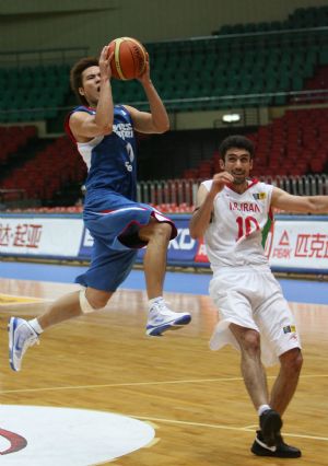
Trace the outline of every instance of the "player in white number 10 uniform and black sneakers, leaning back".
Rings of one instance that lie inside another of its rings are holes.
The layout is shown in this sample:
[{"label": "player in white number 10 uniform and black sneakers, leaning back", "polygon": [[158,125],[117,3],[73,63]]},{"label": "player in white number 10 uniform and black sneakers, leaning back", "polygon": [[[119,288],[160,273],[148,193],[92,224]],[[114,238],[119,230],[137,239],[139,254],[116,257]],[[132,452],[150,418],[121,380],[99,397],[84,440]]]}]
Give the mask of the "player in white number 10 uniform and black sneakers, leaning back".
[{"label": "player in white number 10 uniform and black sneakers, leaning back", "polygon": [[[259,416],[251,452],[298,457],[301,451],[286,445],[280,430],[302,368],[301,342],[265,256],[262,231],[271,208],[327,213],[328,196],[292,196],[249,179],[254,147],[243,136],[226,138],[220,154],[222,172],[200,185],[190,221],[191,236],[204,237],[213,271],[210,295],[220,313],[210,348],[218,350],[231,343],[241,350],[242,374]],[[270,395],[261,361],[265,365],[280,363]]]}]

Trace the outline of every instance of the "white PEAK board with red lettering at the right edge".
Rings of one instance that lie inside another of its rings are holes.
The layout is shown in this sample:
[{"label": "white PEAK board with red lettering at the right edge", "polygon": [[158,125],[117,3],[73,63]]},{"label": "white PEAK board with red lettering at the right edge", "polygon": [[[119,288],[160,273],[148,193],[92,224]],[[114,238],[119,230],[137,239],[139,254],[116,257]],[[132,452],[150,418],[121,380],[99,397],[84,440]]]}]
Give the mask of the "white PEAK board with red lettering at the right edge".
[{"label": "white PEAK board with red lettering at the right edge", "polygon": [[278,220],[266,249],[271,267],[328,271],[327,221]]}]

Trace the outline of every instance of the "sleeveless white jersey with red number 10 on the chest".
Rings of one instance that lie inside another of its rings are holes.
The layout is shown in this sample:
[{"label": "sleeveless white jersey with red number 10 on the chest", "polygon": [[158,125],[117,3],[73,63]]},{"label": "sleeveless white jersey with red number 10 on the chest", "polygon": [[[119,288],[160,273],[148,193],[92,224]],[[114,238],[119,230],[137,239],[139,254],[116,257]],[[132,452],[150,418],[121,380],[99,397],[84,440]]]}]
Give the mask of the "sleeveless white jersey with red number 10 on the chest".
[{"label": "sleeveless white jersey with red number 10 on the chest", "polygon": [[[202,185],[209,191],[212,179]],[[245,193],[225,186],[214,198],[213,218],[204,234],[213,271],[220,267],[268,264],[261,245],[262,230],[270,215],[273,186],[248,182]]]}]

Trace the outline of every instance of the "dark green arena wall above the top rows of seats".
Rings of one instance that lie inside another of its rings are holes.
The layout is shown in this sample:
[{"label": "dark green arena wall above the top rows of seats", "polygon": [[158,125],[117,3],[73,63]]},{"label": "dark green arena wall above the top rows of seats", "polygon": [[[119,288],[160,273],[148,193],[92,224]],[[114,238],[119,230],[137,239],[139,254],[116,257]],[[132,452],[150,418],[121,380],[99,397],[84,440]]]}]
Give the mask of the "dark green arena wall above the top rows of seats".
[{"label": "dark green arena wall above the top rows of seats", "polygon": [[[208,36],[223,24],[283,21],[327,0],[11,0],[0,2],[1,53],[89,46],[117,36],[156,42]],[[0,54],[1,58],[1,54]]]}]

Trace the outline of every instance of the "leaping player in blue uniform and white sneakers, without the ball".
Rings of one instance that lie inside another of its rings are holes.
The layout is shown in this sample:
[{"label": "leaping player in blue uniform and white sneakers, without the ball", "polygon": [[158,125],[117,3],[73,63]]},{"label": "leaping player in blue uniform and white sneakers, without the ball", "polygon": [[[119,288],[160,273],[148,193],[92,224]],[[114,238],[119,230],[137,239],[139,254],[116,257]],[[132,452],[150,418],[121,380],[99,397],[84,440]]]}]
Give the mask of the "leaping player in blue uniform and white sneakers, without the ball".
[{"label": "leaping player in blue uniform and white sneakers, without the ball", "polygon": [[114,105],[110,59],[104,47],[99,59],[84,58],[71,70],[71,86],[82,105],[67,118],[66,130],[87,166],[83,219],[93,236],[91,266],[77,278],[81,291],[56,301],[32,321],[9,322],[10,365],[20,371],[30,346],[48,327],[103,308],[130,272],[138,248],[147,246],[144,273],[149,298],[147,335],[160,336],[191,321],[176,313],[163,299],[166,252],[177,235],[174,223],[156,209],[136,200],[134,130],[162,133],[168,130],[166,109],[150,79],[149,62],[139,78],[150,113]]}]

